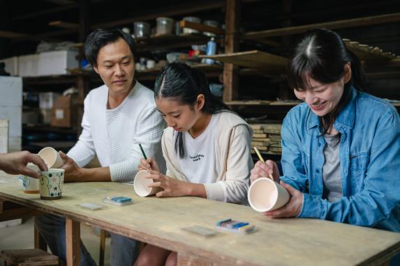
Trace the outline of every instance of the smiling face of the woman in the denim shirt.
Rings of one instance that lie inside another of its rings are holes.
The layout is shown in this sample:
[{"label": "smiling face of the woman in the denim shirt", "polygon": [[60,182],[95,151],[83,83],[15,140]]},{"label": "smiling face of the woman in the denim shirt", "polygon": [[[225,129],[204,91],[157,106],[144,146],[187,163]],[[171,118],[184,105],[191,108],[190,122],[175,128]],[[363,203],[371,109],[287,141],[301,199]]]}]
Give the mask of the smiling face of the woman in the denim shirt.
[{"label": "smiling face of the woman in the denim shirt", "polygon": [[299,100],[309,104],[311,111],[317,116],[325,116],[331,111],[334,111],[339,104],[343,95],[344,84],[351,77],[350,63],[345,65],[345,74],[343,77],[334,83],[321,84],[315,79],[308,77],[309,88],[300,88],[300,91],[295,90],[295,95]]}]

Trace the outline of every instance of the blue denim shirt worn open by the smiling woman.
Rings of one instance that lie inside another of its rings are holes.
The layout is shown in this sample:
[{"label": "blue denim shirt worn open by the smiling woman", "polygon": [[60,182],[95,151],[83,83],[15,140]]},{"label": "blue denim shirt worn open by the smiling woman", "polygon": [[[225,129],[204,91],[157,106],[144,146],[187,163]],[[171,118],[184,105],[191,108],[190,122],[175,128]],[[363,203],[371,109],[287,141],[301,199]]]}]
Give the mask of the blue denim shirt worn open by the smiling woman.
[{"label": "blue denim shirt worn open by the smiling woman", "polygon": [[323,198],[323,148],[318,116],[305,103],[292,108],[282,126],[281,180],[303,192],[299,217],[400,232],[400,117],[391,104],[352,90],[334,122],[341,133],[343,197]]}]

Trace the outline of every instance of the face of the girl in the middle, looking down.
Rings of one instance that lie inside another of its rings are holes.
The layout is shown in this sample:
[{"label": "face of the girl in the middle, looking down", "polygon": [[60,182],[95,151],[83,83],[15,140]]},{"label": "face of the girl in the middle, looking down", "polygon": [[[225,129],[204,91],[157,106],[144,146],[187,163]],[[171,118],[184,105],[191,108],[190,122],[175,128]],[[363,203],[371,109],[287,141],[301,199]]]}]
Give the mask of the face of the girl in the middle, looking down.
[{"label": "face of the girl in the middle, looking down", "polygon": [[204,106],[204,95],[198,95],[195,104],[181,104],[172,97],[156,97],[158,111],[163,116],[168,127],[176,131],[189,131],[201,115],[201,109]]}]

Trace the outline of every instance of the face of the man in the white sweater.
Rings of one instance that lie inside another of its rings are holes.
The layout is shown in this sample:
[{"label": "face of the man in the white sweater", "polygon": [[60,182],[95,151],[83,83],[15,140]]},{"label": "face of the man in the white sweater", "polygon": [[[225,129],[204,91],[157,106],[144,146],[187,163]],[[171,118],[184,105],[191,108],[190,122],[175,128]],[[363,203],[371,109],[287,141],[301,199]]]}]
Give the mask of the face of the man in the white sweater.
[{"label": "face of the man in the white sweater", "polygon": [[127,93],[135,75],[135,61],[128,44],[119,38],[98,51],[94,70],[100,75],[110,93]]}]

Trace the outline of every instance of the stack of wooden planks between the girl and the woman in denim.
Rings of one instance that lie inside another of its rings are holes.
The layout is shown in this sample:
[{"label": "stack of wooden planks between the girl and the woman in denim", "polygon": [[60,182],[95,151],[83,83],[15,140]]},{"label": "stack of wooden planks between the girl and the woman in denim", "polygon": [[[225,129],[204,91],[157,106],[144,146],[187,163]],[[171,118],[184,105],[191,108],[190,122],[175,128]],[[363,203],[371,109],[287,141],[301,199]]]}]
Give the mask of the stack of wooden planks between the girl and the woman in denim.
[{"label": "stack of wooden planks between the girl and the woman in denim", "polygon": [[269,154],[280,155],[282,153],[282,124],[250,124],[250,126],[254,131],[251,146],[256,146],[258,150]]}]

